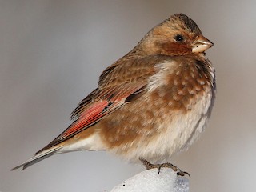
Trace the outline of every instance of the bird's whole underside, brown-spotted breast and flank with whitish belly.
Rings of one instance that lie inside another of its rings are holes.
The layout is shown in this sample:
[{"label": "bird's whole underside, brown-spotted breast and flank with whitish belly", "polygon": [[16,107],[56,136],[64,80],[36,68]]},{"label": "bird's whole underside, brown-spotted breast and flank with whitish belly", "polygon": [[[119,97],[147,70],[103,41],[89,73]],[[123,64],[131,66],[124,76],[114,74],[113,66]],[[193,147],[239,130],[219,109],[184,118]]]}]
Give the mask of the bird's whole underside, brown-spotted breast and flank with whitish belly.
[{"label": "bird's whole underside, brown-spotted breast and flank with whitish belly", "polygon": [[209,76],[214,71],[197,65],[191,61],[158,65],[141,98],[99,122],[107,150],[131,161],[138,157],[155,161],[194,142],[204,129],[214,98],[214,77]]}]

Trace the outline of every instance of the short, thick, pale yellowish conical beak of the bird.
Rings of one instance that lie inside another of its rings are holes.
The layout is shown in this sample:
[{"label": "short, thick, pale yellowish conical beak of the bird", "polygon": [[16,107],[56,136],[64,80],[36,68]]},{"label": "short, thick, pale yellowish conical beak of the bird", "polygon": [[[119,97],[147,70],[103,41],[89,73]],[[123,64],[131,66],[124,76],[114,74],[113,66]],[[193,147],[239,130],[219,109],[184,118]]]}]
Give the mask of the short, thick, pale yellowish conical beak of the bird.
[{"label": "short, thick, pale yellowish conical beak of the bird", "polygon": [[203,37],[202,34],[198,36],[192,46],[192,53],[202,53],[205,50],[213,46],[214,43],[210,42],[207,38]]}]

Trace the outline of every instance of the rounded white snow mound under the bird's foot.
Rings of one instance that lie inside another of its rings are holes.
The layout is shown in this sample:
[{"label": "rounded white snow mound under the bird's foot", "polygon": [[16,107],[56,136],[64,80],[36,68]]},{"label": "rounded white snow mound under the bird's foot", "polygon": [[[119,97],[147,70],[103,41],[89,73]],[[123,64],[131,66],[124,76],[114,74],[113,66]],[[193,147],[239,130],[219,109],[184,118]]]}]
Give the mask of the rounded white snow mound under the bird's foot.
[{"label": "rounded white snow mound under the bird's foot", "polygon": [[110,192],[189,192],[189,180],[170,168],[145,170],[127,179]]}]

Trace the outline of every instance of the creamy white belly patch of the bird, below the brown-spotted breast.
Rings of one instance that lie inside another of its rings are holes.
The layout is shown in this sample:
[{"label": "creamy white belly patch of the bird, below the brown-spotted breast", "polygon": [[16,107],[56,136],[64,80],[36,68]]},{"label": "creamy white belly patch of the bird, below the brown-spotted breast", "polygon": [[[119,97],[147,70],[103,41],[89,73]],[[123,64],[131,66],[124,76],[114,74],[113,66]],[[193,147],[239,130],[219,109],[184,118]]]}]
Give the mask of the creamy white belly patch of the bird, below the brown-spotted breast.
[{"label": "creamy white belly patch of the bird, below the brown-spotted breast", "polygon": [[[212,108],[212,91],[209,89],[186,114],[174,114],[170,122],[159,126],[158,134],[150,142],[141,141],[138,147],[122,154],[124,159],[138,162],[138,157],[150,162],[161,162],[173,154],[187,149],[204,130]],[[113,151],[115,153],[115,151]]]}]

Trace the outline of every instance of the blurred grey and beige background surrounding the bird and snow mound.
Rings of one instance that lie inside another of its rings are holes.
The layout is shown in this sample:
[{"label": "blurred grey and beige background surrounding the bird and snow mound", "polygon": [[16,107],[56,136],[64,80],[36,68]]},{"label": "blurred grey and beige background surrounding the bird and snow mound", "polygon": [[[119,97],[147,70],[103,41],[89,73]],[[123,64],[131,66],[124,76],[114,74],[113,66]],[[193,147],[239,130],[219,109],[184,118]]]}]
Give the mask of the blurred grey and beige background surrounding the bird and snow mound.
[{"label": "blurred grey and beige background surrounding the bird and snow mound", "polygon": [[218,94],[202,138],[173,159],[190,191],[252,191],[256,170],[256,2],[0,1],[0,191],[105,191],[144,170],[105,152],[30,158],[70,124],[98,76],[170,14],[198,23]]}]

